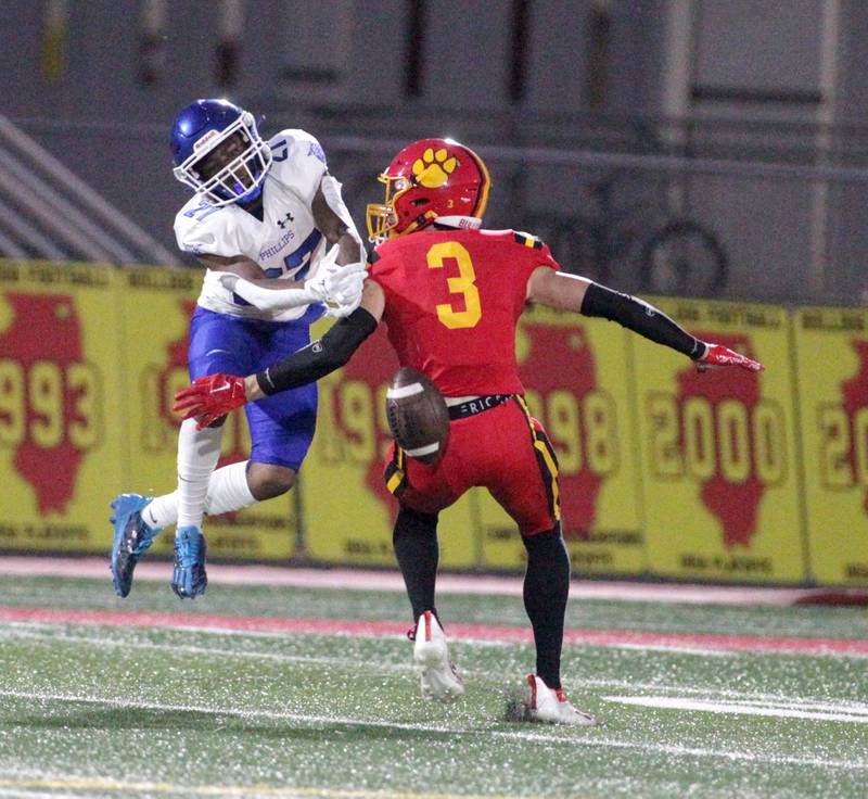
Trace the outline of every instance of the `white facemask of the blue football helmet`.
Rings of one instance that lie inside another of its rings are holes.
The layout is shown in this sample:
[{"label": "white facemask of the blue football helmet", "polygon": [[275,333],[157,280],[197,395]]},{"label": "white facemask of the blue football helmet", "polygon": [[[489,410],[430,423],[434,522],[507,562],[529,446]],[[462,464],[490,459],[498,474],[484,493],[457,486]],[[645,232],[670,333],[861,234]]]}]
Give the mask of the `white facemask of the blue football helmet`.
[{"label": "white facemask of the blue football helmet", "polygon": [[271,166],[271,149],[244,112],[221,131],[210,130],[174,169],[175,177],[214,206],[255,200]]}]

